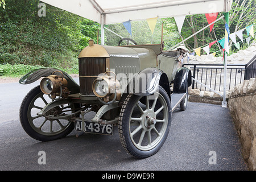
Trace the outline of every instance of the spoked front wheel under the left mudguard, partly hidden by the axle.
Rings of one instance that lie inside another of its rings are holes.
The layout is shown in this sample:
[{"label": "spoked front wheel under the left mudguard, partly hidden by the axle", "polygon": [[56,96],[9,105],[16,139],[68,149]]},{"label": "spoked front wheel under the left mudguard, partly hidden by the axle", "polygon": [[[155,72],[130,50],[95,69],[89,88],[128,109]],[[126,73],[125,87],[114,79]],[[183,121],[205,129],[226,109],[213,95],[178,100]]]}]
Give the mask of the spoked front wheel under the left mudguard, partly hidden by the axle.
[{"label": "spoked front wheel under the left mudguard, partly hidden by the axle", "polygon": [[[64,121],[64,119],[50,121],[46,117],[36,115],[49,102],[51,102],[49,97],[42,93],[40,86],[36,86],[24,97],[19,110],[23,129],[30,137],[42,142],[63,138],[75,127],[75,123],[72,121]],[[67,106],[69,110],[71,107],[73,108],[73,105]],[[60,106],[53,109],[58,110]]]}]

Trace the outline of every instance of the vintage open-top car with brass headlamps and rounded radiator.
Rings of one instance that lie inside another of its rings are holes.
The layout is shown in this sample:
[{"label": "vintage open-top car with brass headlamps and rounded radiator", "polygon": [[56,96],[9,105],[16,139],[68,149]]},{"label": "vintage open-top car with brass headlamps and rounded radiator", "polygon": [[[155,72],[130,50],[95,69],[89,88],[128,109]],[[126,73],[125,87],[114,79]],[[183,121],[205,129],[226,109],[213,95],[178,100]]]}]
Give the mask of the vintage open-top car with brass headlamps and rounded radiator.
[{"label": "vintage open-top car with brass headlamps and rounded radiator", "polygon": [[79,84],[54,68],[20,78],[20,84],[30,84],[43,77],[20,106],[23,129],[49,141],[74,129],[112,135],[118,125],[127,152],[154,155],[168,136],[172,111],[187,107],[191,71],[177,68],[183,55],[184,49],[163,51],[163,43],[114,47],[89,40],[79,55]]}]

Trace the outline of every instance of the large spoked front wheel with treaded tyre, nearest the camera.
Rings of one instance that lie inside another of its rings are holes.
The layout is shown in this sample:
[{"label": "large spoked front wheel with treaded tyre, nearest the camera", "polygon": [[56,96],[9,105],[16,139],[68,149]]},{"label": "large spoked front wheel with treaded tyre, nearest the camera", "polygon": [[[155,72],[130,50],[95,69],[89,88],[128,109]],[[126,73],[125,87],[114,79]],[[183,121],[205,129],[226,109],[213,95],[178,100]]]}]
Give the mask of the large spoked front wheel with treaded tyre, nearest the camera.
[{"label": "large spoked front wheel with treaded tyre, nearest the camera", "polygon": [[[170,98],[161,86],[154,96],[144,96],[146,105],[139,102],[142,97],[134,94],[126,97],[118,122],[122,146],[139,159],[154,155],[163,146],[172,114]],[[159,104],[162,106],[158,107]]]}]

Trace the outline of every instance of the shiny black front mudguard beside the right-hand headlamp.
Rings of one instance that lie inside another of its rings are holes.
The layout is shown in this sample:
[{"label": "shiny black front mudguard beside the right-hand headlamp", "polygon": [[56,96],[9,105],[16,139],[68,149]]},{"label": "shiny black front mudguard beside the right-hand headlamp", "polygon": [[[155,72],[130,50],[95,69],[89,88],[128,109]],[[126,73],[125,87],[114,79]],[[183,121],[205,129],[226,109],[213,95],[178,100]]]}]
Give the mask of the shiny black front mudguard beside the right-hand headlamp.
[{"label": "shiny black front mudguard beside the right-hand headlamp", "polygon": [[138,96],[149,96],[158,90],[158,85],[162,86],[170,96],[170,86],[166,73],[158,68],[146,68],[129,82],[129,91]]}]

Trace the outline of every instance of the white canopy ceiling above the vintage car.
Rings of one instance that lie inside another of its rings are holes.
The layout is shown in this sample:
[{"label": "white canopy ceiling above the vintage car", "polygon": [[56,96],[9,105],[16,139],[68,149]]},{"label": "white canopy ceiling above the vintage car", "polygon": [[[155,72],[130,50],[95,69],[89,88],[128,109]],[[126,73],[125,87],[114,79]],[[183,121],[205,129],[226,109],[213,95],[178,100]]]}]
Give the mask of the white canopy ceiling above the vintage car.
[{"label": "white canopy ceiling above the vintage car", "polygon": [[232,0],[40,0],[101,24],[229,11]]}]

